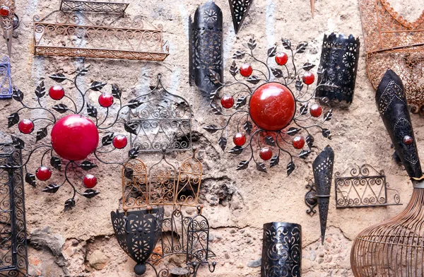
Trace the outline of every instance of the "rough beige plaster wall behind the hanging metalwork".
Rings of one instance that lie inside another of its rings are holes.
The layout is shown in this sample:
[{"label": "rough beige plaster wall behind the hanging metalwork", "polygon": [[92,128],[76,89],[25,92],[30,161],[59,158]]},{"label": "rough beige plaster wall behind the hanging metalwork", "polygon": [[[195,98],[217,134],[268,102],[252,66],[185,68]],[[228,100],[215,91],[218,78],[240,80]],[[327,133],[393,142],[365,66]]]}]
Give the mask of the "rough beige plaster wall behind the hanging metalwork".
[{"label": "rough beige plaster wall behind the hanging metalwork", "polygon": [[[396,1],[394,7],[406,18],[414,19],[420,13],[422,0]],[[85,77],[91,81],[119,83],[124,88],[124,98],[129,100],[136,91],[146,93],[154,83],[157,73],[163,73],[163,83],[172,93],[187,98],[194,109],[194,131],[199,139],[195,146],[204,163],[203,196],[204,215],[211,223],[211,249],[218,255],[216,273],[201,269],[199,276],[259,276],[257,259],[261,255],[262,225],[270,221],[300,223],[303,230],[303,264],[305,277],[353,276],[349,255],[355,235],[367,226],[399,213],[402,206],[387,208],[343,209],[336,211],[334,189],[331,191],[329,222],[326,243],[319,243],[319,218],[305,213],[305,184],[312,177],[314,153],[307,160],[298,160],[298,168],[286,177],[283,165],[269,170],[268,174],[250,168],[236,172],[239,158],[222,153],[216,135],[207,134],[201,128],[211,124],[213,115],[206,109],[207,100],[188,80],[188,17],[193,14],[198,1],[160,0],[131,1],[128,12],[144,15],[154,23],[163,23],[165,39],[170,42],[170,57],[165,62],[113,61],[56,57],[33,57],[33,23],[35,13],[48,13],[59,4],[56,0],[18,1],[21,19],[18,38],[14,41],[12,56],[13,83],[27,93],[26,99],[40,81],[51,73],[70,74],[81,64],[91,64]],[[310,42],[310,50],[299,62],[309,60],[319,63],[320,46],[324,33],[333,31],[352,33],[362,40],[357,0],[319,0],[315,18],[311,18],[307,0],[255,0],[242,29],[235,35],[232,28],[228,1],[217,0],[224,15],[225,67],[231,62],[231,54],[244,48],[248,38],[257,38],[257,53],[266,49],[283,36],[293,42]],[[407,8],[413,7],[413,8]],[[0,43],[3,53],[6,46]],[[63,71],[61,71],[63,69]],[[226,71],[228,72],[228,71]],[[225,76],[228,77],[228,73]],[[46,86],[52,81],[46,80]],[[96,99],[95,94],[92,95]],[[6,129],[6,115],[18,107],[12,100],[1,101],[4,125],[1,136],[6,139],[16,128]],[[33,117],[40,114],[31,114]],[[351,164],[369,163],[387,173],[388,182],[399,189],[406,203],[411,194],[411,184],[406,172],[391,159],[389,136],[375,107],[374,92],[365,72],[365,52],[361,47],[360,64],[355,98],[349,110],[334,110],[330,141],[336,153],[335,171],[342,172]],[[413,116],[413,126],[418,146],[423,144],[424,126],[420,117]],[[316,137],[319,137],[317,134]],[[317,139],[319,152],[329,141]],[[424,156],[424,148],[420,148]],[[126,151],[124,151],[126,152]],[[181,161],[186,154],[174,155]],[[113,158],[119,157],[110,157]],[[158,160],[156,155],[142,157],[149,165]],[[173,159],[171,159],[173,160]],[[33,163],[35,171],[36,163]],[[40,192],[46,184],[39,182],[34,189],[25,184],[27,228],[30,237],[28,255],[31,276],[134,276],[134,261],[126,257],[114,238],[110,223],[110,211],[119,207],[121,199],[120,172],[117,167],[100,165],[95,171],[99,179],[97,189],[101,194],[94,199],[77,199],[73,210],[63,213],[63,203],[70,190],[60,189],[54,196]],[[55,173],[56,174],[56,173]],[[59,177],[53,175],[52,178]],[[193,211],[187,211],[193,213]],[[248,266],[249,264],[249,266]]]}]

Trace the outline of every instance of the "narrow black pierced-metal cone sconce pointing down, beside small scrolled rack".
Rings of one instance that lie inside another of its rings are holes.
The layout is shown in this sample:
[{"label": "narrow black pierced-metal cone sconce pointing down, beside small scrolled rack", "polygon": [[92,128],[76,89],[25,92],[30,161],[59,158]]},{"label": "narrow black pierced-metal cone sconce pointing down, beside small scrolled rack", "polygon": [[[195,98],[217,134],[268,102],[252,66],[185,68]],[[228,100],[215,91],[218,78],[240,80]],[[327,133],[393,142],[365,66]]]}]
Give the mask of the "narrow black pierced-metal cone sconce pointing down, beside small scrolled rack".
[{"label": "narrow black pierced-metal cone sconce pointing down, beside small scrolled rack", "polygon": [[317,211],[315,206],[319,205],[319,222],[321,225],[321,242],[324,244],[326,221],[329,213],[329,201],[331,192],[331,181],[333,179],[334,151],[326,146],[312,163],[314,171],[314,183],[307,184],[309,189],[305,194],[305,204],[309,207],[306,211],[313,216]]}]

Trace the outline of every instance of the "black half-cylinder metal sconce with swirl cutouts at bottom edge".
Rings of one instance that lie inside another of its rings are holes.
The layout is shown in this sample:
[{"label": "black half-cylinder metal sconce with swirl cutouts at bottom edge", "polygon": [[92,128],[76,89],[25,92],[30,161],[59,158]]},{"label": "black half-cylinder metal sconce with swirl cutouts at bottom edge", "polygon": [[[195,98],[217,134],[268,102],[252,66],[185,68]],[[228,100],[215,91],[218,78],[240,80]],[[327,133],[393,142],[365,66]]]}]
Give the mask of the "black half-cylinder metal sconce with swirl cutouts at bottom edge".
[{"label": "black half-cylinder metal sconce with swirl cutouts at bottom edge", "polygon": [[302,275],[302,226],[295,223],[264,224],[261,277]]}]

